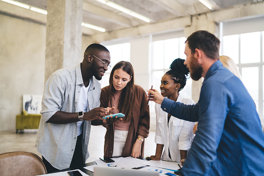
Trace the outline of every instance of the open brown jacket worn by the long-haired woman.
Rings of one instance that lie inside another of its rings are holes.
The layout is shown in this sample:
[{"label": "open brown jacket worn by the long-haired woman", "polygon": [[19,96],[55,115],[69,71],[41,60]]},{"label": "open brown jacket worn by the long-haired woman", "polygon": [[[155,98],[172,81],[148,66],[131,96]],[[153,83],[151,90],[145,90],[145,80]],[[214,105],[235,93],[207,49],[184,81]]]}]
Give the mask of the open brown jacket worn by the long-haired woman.
[{"label": "open brown jacket worn by the long-haired woman", "polygon": [[[147,96],[144,89],[138,85],[135,85],[135,105],[132,109],[133,119],[128,130],[128,136],[122,156],[130,156],[132,153],[132,147],[137,139],[138,134],[148,137],[149,133],[149,107],[147,105]],[[112,107],[110,104],[110,97],[108,96],[109,86],[102,88],[101,90],[101,107]],[[113,124],[110,124],[106,128],[106,134],[104,137],[104,157],[112,157],[114,149],[114,128]],[[144,141],[141,145],[141,157],[144,156]]]}]

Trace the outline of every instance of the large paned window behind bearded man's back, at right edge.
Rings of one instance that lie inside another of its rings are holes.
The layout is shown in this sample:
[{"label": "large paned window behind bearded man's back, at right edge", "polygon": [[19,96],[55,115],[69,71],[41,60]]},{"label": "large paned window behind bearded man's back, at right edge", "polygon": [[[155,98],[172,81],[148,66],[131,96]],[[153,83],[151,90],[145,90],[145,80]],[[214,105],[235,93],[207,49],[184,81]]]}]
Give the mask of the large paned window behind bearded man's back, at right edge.
[{"label": "large paned window behind bearded man's back, at right edge", "polygon": [[263,31],[223,36],[223,54],[231,57],[263,116]]}]

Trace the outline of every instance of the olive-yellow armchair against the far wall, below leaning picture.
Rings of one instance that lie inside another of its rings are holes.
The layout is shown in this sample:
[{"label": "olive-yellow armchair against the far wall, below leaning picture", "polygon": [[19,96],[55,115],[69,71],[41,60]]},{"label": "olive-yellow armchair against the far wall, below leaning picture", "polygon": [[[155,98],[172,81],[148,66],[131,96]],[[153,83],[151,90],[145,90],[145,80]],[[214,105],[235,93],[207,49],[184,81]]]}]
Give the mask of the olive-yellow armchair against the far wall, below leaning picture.
[{"label": "olive-yellow armchair against the far wall, below leaning picture", "polygon": [[26,110],[16,115],[16,133],[23,129],[38,129],[41,114],[28,114]]}]

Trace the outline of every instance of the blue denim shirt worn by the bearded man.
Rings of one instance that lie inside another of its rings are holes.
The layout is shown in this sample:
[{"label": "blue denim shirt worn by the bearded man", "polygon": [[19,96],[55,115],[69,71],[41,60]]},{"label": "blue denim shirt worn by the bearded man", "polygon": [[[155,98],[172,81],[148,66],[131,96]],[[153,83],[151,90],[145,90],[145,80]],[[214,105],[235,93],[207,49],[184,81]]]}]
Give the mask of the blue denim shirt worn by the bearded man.
[{"label": "blue denim shirt worn by the bearded man", "polygon": [[220,61],[207,71],[197,104],[164,98],[161,108],[199,121],[183,175],[264,175],[264,134],[254,101]]}]

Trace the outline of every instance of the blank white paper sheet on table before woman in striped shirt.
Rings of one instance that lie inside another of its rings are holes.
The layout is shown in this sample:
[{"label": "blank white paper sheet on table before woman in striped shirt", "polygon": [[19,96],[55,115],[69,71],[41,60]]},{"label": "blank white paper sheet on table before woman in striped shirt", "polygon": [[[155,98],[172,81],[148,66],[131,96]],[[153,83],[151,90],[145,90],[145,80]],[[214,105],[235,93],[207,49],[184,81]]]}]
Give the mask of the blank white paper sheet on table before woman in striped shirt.
[{"label": "blank white paper sheet on table before woman in striped shirt", "polygon": [[181,163],[162,161],[162,160],[159,160],[159,161],[150,160],[150,161],[143,162],[142,164],[153,166],[153,167],[160,167],[164,169],[171,169],[171,170],[179,169],[180,167],[178,166],[178,164],[180,164],[180,166],[182,167]]}]

